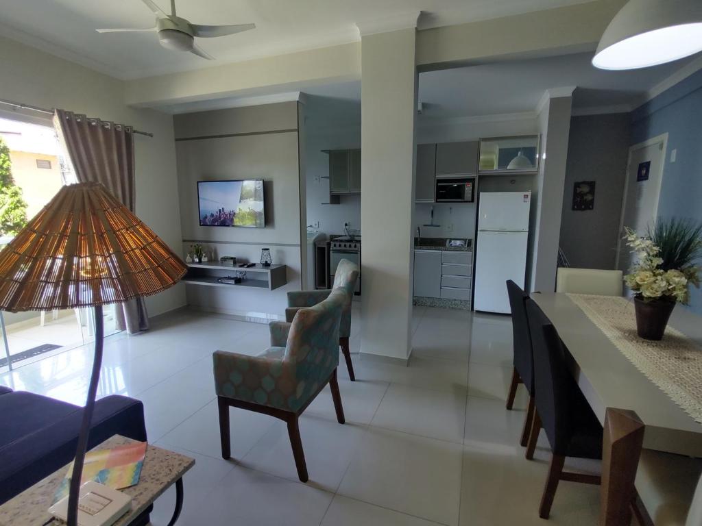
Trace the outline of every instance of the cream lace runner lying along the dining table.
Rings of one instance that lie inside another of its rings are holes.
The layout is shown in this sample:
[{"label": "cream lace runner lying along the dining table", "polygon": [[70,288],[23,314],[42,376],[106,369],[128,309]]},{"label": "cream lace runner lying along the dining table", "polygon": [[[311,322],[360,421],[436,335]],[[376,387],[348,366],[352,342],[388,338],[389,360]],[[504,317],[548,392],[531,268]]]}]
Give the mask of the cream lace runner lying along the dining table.
[{"label": "cream lace runner lying along the dining table", "polygon": [[638,337],[631,300],[583,294],[568,297],[638,370],[702,424],[701,347],[670,326],[660,342]]}]

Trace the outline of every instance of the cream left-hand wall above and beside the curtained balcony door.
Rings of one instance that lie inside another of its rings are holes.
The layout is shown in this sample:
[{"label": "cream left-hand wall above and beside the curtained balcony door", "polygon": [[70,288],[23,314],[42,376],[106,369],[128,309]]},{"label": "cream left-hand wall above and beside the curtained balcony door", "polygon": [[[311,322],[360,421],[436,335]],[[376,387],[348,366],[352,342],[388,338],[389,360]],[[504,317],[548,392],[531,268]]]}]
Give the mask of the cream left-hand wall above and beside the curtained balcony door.
[{"label": "cream left-hand wall above and beside the curtained balcony door", "polygon": [[[38,107],[58,107],[130,124],[154,137],[135,135],[136,213],[180,252],[180,212],[173,120],[124,103],[124,83],[18,42],[0,37],[0,98]],[[29,112],[27,112],[29,114]],[[36,114],[35,114],[36,115]],[[147,297],[150,316],[185,304],[185,287]],[[7,316],[12,323],[11,315]]]}]

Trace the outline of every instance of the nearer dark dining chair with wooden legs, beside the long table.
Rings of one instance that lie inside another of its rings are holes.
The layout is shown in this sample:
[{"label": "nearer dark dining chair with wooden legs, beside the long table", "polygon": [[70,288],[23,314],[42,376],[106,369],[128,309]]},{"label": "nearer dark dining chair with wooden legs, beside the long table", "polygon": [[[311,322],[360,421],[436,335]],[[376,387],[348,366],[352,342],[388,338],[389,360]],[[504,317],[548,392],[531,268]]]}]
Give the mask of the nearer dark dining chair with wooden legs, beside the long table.
[{"label": "nearer dark dining chair with wooden legs, beside the long table", "polygon": [[527,318],[534,349],[534,422],[527,459],[534,458],[543,428],[551,446],[548,478],[538,515],[548,519],[559,480],[600,484],[600,476],[563,471],[566,457],[602,459],[604,430],[567,369],[565,349],[555,327],[533,299],[527,299]]}]

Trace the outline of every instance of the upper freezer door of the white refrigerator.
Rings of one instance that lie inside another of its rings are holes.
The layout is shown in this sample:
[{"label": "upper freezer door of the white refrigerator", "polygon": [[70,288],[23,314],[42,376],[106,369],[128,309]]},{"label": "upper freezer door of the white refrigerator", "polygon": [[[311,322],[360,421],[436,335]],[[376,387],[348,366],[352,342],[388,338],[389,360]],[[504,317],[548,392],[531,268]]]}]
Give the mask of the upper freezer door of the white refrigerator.
[{"label": "upper freezer door of the white refrigerator", "polygon": [[479,230],[529,230],[531,191],[480,192]]}]

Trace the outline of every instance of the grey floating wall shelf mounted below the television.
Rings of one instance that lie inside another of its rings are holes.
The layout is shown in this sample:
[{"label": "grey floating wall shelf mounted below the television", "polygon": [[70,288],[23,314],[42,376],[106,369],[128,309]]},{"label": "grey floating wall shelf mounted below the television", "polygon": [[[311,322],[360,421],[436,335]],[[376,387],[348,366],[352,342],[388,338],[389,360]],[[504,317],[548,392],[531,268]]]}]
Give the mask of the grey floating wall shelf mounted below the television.
[{"label": "grey floating wall shelf mounted below the television", "polygon": [[[274,290],[287,283],[285,265],[263,267],[261,264],[256,264],[256,267],[247,269],[246,267],[225,267],[218,263],[189,263],[187,267],[188,271],[183,282],[190,285]],[[234,276],[237,271],[246,272],[246,277],[241,283],[218,283],[218,278]]]}]

